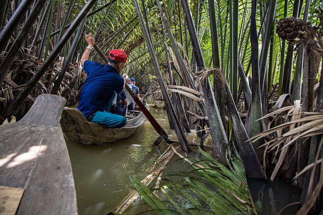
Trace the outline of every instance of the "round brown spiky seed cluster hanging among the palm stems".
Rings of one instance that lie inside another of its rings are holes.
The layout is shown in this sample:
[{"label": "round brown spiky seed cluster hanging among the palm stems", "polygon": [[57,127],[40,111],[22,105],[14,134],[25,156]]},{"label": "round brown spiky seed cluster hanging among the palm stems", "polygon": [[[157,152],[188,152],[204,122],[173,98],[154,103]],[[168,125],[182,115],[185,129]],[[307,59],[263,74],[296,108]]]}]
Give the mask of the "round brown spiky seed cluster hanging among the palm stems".
[{"label": "round brown spiky seed cluster hanging among the palm stems", "polygon": [[283,40],[304,39],[306,23],[296,17],[286,17],[279,20],[276,28],[278,36]]}]

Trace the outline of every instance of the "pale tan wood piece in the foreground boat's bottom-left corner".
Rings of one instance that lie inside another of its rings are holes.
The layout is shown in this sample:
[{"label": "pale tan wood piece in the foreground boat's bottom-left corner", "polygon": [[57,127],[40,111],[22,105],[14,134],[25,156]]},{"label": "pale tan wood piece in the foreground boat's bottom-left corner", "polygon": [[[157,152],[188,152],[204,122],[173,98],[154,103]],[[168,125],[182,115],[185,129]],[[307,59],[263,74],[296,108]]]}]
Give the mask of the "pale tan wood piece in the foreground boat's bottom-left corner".
[{"label": "pale tan wood piece in the foreground boat's bottom-left corner", "polygon": [[25,189],[0,186],[0,215],[15,215]]}]

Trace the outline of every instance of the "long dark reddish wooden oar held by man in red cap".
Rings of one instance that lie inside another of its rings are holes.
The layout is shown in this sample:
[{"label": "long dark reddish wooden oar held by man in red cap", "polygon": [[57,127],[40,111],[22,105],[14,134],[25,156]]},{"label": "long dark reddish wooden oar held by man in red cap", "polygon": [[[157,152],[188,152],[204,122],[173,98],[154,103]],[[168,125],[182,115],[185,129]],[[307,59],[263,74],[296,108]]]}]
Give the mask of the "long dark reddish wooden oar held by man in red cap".
[{"label": "long dark reddish wooden oar held by man in red cap", "polygon": [[[101,56],[101,58],[105,61],[105,63],[108,64],[109,60],[108,58],[103,54],[103,52],[100,50],[100,48],[97,46],[97,44],[94,44],[93,46],[95,48],[95,50],[99,53],[99,55]],[[140,101],[140,99],[137,97],[137,95],[135,93],[132,92],[132,90],[130,89],[130,87],[128,86],[128,84],[125,84],[126,90],[130,93],[130,95],[132,96],[133,100],[135,100],[135,102],[137,103],[137,105],[140,107],[141,111],[143,112],[143,114],[145,114],[145,116],[147,117],[147,119],[149,120],[149,122],[151,123],[152,127],[154,127],[154,129],[156,130],[156,132],[161,135],[161,138],[158,138],[156,140],[156,142],[161,142],[162,139],[165,139],[167,142],[171,142],[168,139],[168,135],[166,134],[166,132],[162,129],[162,127],[158,124],[158,122],[155,120],[155,118],[151,115],[151,113],[147,110],[147,108],[145,107],[145,105]],[[156,143],[155,142],[155,143]],[[158,143],[159,144],[159,143]]]}]

